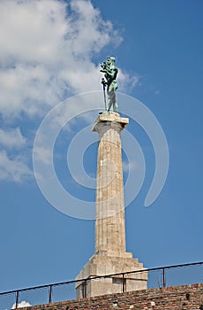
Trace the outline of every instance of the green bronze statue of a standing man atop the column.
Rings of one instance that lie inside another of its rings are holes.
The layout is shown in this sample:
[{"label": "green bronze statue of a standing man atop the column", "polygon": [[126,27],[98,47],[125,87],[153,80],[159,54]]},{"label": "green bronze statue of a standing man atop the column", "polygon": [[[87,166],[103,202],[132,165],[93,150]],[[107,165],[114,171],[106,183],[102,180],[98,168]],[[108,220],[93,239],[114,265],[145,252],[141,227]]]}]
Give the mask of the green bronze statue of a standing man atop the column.
[{"label": "green bronze statue of a standing man atop the column", "polygon": [[107,85],[107,95],[108,95],[108,106],[107,112],[109,112],[111,106],[113,105],[113,111],[117,112],[117,99],[115,91],[117,90],[117,73],[118,69],[115,66],[116,58],[108,57],[107,62],[102,62],[100,70],[104,73],[106,81],[102,81],[103,85]]}]

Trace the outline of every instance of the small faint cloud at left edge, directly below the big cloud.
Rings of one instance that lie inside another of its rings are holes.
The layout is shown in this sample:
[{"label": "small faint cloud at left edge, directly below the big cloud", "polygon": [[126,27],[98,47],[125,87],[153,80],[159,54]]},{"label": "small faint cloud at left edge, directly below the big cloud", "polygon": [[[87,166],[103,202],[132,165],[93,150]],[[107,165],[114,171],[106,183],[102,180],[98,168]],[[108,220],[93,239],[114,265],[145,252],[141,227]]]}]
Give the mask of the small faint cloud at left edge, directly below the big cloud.
[{"label": "small faint cloud at left edge, directly below the big cloud", "polygon": [[26,138],[22,136],[20,128],[8,131],[0,129],[0,144],[7,148],[20,148],[26,144]]}]

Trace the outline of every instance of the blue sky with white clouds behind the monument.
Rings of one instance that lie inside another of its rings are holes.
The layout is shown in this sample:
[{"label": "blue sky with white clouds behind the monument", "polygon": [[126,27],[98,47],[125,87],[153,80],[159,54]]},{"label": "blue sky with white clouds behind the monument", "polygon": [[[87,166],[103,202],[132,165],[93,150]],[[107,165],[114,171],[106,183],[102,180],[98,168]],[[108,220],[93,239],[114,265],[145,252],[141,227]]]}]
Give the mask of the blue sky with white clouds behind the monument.
[{"label": "blue sky with white clouds behind the monument", "polygon": [[[34,178],[32,153],[53,107],[101,89],[99,63],[109,55],[117,58],[119,91],[154,113],[169,145],[167,180],[145,207],[154,149],[135,113],[128,130],[143,151],[146,174],[125,209],[127,251],[146,267],[202,260],[202,1],[2,1],[0,15],[0,291],[74,279],[94,253],[94,221],[49,205]],[[84,201],[94,201],[94,190],[72,180],[67,148],[96,119],[99,100],[91,102],[91,117],[84,112],[70,120],[56,139],[57,177]],[[124,101],[118,105],[122,110]],[[67,106],[67,113],[80,112]],[[95,175],[96,143],[87,146],[84,167]]]}]

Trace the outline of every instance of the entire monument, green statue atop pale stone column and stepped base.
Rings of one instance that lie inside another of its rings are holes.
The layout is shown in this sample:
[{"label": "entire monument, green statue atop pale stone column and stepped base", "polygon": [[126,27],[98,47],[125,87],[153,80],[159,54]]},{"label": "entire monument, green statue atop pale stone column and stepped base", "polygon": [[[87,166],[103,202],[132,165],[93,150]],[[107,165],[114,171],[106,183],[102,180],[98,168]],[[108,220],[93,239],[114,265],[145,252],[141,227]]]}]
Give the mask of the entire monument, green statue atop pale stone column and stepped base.
[{"label": "entire monument, green statue atop pale stone column and stepped base", "polygon": [[[132,258],[125,248],[124,180],[122,169],[122,148],[120,134],[128,125],[129,119],[117,113],[117,67],[115,58],[102,63],[102,79],[105,111],[94,122],[93,131],[99,134],[97,155],[97,185],[95,201],[95,253],[76,280],[77,298],[93,297],[122,291],[147,289],[147,271],[138,259]],[[107,86],[108,105],[105,87]],[[113,112],[110,108],[113,106]],[[142,270],[138,274],[92,279],[99,275],[112,275]]]}]

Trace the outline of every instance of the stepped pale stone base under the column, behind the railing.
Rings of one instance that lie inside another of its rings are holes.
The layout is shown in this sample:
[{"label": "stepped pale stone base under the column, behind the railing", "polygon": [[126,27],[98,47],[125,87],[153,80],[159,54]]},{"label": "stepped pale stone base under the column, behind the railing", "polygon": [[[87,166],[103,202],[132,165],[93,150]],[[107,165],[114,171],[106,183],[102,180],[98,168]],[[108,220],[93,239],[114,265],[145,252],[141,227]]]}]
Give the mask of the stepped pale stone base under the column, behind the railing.
[{"label": "stepped pale stone base under the column, behind the railing", "polygon": [[[147,289],[147,271],[138,259],[132,258],[131,252],[125,252],[123,257],[113,256],[113,253],[102,252],[94,254],[79,272],[76,280],[87,279],[76,283],[76,298],[94,297],[123,291],[139,291]],[[129,271],[142,270],[140,273],[115,275]],[[91,279],[100,275],[109,277]]]}]

